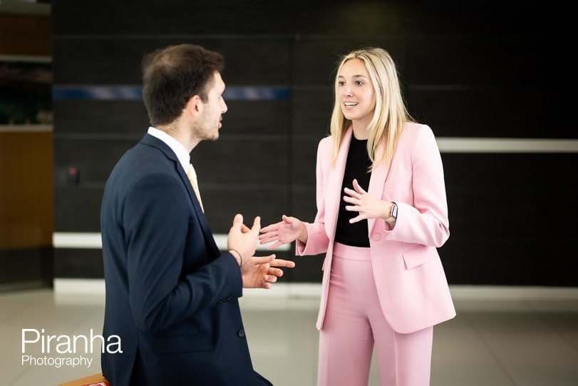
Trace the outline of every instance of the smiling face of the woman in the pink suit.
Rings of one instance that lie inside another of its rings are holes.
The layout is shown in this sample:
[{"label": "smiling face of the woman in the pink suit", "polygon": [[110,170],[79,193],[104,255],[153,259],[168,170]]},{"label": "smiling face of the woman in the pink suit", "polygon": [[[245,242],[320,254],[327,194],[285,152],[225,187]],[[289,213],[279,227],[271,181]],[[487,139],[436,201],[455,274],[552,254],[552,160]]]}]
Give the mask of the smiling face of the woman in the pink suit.
[{"label": "smiling face of the woman in the pink suit", "polygon": [[337,82],[336,96],[345,118],[369,124],[376,109],[376,93],[363,61],[346,61],[337,74]]}]

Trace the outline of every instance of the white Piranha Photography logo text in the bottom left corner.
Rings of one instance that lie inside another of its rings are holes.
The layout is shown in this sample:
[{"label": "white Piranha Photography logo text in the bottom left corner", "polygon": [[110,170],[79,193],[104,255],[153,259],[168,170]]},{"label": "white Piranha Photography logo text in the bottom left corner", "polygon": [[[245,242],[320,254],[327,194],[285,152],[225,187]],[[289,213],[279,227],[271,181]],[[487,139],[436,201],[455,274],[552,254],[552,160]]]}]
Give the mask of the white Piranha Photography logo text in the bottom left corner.
[{"label": "white Piranha Photography logo text in the bottom left corner", "polygon": [[50,335],[44,329],[22,329],[22,360],[21,365],[91,367],[92,354],[108,352],[109,354],[122,353],[120,337],[110,335],[105,339],[103,335],[94,333],[91,328],[89,335]]}]

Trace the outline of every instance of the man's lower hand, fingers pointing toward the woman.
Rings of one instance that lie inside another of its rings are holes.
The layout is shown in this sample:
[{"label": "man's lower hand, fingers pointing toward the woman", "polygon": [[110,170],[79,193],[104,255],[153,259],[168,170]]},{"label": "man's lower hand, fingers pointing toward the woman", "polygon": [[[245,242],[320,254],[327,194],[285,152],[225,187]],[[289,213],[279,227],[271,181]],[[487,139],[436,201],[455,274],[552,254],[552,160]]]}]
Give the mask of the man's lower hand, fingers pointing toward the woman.
[{"label": "man's lower hand, fingers pointing toward the woman", "polygon": [[243,261],[241,275],[244,288],[271,288],[277,278],[281,278],[283,271],[275,267],[293,268],[295,263],[290,260],[276,259],[275,255],[259,258],[252,256]]}]

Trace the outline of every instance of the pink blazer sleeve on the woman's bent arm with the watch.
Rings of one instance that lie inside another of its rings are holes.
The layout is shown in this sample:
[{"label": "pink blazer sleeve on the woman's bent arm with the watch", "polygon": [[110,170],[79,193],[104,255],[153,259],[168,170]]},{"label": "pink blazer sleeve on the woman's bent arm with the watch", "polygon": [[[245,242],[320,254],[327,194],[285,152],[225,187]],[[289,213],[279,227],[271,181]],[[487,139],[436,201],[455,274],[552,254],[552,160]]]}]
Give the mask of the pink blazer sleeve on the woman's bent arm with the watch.
[{"label": "pink blazer sleeve on the woman's bent arm with the watch", "polygon": [[450,237],[448,203],[438,144],[428,126],[420,126],[411,147],[413,205],[399,202],[388,240],[439,248]]}]

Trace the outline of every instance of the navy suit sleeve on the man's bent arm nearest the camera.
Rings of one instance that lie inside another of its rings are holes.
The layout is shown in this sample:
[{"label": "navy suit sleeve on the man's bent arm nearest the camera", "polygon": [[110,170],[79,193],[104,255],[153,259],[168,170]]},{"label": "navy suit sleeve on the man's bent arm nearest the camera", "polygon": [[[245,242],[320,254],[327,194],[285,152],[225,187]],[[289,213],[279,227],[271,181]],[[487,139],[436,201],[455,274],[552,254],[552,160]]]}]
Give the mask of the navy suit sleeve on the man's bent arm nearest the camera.
[{"label": "navy suit sleeve on the man's bent arm nearest the camera", "polygon": [[[184,198],[182,181],[164,173],[141,178],[126,195],[122,215],[129,300],[144,331],[165,330],[222,298],[242,295],[239,266],[230,253],[182,275],[185,243],[195,231],[190,227],[200,228]],[[199,253],[207,253],[205,240],[199,243]]]}]

